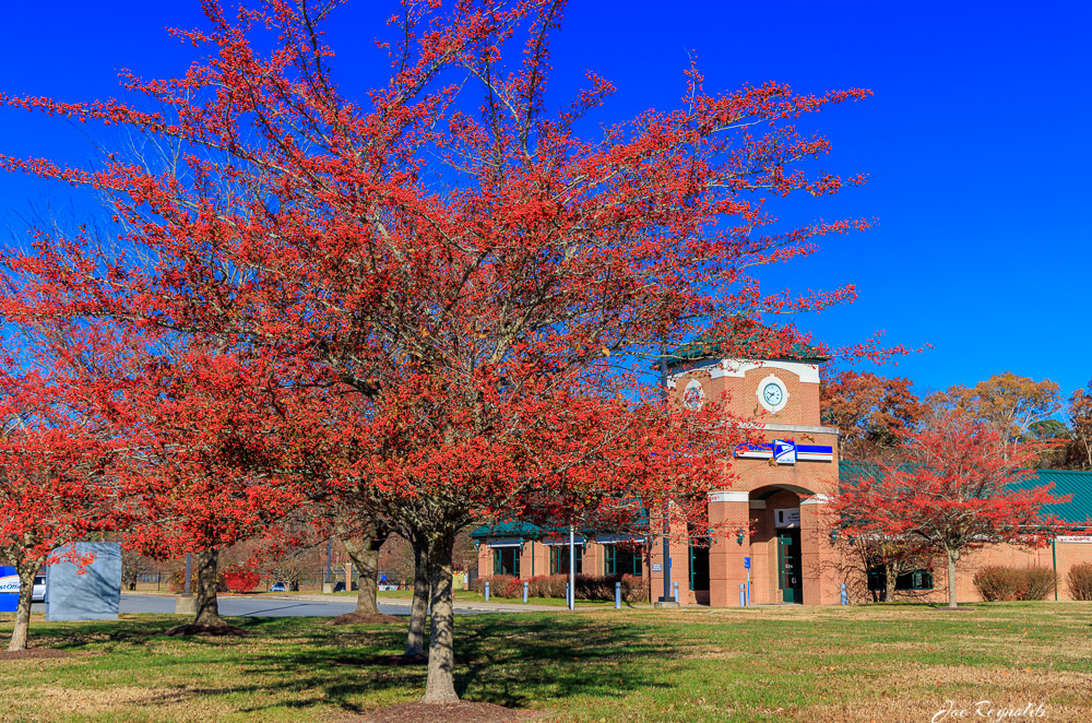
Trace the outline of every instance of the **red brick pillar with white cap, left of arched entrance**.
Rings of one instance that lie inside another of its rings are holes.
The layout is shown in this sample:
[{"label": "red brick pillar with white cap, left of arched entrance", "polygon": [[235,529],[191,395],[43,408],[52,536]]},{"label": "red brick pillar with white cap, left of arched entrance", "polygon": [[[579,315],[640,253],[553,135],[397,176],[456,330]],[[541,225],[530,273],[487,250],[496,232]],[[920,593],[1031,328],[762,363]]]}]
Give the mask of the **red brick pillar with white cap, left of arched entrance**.
[{"label": "red brick pillar with white cap, left of arched entrance", "polygon": [[[739,585],[747,582],[744,558],[750,555],[749,495],[745,491],[709,494],[709,524],[713,544],[709,550],[709,604],[738,607]],[[738,532],[744,533],[743,543]]]}]

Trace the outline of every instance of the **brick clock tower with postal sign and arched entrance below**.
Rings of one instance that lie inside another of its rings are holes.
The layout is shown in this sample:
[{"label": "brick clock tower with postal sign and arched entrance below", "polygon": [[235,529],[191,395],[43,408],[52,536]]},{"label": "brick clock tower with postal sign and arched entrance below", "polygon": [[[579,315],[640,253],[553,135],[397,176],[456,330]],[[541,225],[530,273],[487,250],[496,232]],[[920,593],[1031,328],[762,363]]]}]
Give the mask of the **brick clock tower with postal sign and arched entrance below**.
[{"label": "brick clock tower with postal sign and arched entrance below", "polygon": [[689,545],[688,576],[672,554],[684,603],[738,605],[739,585],[751,603],[838,602],[822,514],[838,487],[838,429],[819,415],[818,365],[826,360],[748,320],[731,339],[707,334],[668,357],[668,394],[680,406],[722,403],[756,437],[724,451],[731,486],[709,495],[713,534],[708,546]]}]

